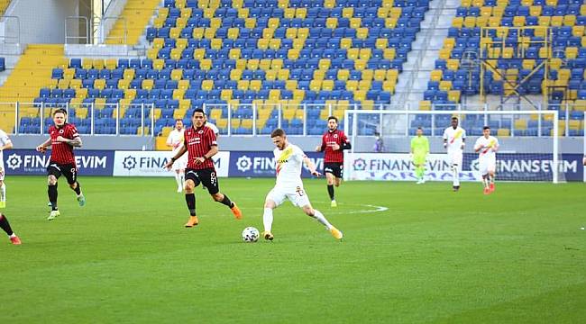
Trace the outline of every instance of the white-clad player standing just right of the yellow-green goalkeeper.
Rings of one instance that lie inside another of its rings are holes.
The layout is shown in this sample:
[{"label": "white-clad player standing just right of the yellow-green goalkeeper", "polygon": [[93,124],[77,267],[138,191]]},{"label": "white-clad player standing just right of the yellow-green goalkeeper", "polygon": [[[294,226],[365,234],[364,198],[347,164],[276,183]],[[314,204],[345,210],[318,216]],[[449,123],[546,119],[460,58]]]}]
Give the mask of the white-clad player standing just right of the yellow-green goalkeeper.
[{"label": "white-clad player standing just right of the yellow-green goalkeeper", "polygon": [[462,171],[462,157],[466,141],[466,130],[458,126],[458,118],[452,117],[452,126],[444,130],[444,148],[447,149],[448,159],[452,167],[452,188],[460,190],[460,172]]}]

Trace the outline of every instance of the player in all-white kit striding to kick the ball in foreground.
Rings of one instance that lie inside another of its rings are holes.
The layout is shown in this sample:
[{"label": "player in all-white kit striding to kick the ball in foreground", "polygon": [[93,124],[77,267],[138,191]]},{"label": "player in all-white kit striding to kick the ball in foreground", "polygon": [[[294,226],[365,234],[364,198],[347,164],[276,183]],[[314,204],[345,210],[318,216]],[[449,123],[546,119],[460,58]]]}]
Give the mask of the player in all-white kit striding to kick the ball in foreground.
[{"label": "player in all-white kit striding to kick the ball in foreground", "polygon": [[312,175],[319,176],[316,166],[307,158],[306,154],[298,146],[290,144],[287,140],[287,134],[284,130],[277,129],[270,133],[270,139],[275,144],[275,163],[277,168],[277,182],[267,194],[264,201],[264,213],[262,222],[264,231],[262,236],[265,239],[272,240],[272,211],[279,207],[280,204],[288,200],[293,205],[300,207],[309,217],[315,218],[328,229],[332,236],[341,239],[343,234],[340,230],[334,228],[329,221],[325,219],[324,214],[317,211],[311,206],[307,193],[303,189],[301,181],[301,168],[305,164]]}]

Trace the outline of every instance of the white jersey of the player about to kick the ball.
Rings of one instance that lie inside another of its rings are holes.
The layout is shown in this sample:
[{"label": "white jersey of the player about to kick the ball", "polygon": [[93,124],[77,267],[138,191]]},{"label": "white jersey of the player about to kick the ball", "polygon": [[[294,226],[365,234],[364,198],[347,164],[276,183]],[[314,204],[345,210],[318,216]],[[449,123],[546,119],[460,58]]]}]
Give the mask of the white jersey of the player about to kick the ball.
[{"label": "white jersey of the player about to kick the ball", "polygon": [[275,164],[277,169],[276,187],[303,187],[301,169],[306,154],[297,145],[288,144],[286,148],[275,148]]}]

